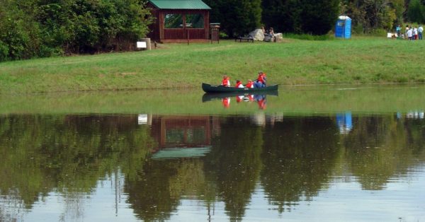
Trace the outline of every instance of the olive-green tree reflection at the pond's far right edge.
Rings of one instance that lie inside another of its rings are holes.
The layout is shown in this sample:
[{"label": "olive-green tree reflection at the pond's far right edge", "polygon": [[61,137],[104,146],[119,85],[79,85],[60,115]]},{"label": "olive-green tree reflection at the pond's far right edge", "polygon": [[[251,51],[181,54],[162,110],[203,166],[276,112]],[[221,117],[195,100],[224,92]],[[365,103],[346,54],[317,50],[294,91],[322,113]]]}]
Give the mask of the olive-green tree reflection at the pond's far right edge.
[{"label": "olive-green tree reflection at the pond's far right edge", "polygon": [[346,160],[363,189],[383,189],[391,177],[424,160],[424,120],[393,116],[356,117],[350,134],[342,139]]}]

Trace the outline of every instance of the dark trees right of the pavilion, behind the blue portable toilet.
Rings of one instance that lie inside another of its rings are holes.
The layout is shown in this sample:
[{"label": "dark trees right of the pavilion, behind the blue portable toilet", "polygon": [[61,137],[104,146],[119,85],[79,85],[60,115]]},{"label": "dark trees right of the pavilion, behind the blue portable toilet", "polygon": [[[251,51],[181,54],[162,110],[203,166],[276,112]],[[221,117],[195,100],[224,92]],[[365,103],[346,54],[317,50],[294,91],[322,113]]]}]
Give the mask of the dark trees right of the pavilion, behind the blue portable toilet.
[{"label": "dark trees right of the pavilion, behind the blue portable toilet", "polygon": [[280,33],[324,35],[339,15],[352,19],[353,33],[392,30],[404,21],[425,23],[425,0],[205,0],[210,21],[229,36],[261,26]]}]

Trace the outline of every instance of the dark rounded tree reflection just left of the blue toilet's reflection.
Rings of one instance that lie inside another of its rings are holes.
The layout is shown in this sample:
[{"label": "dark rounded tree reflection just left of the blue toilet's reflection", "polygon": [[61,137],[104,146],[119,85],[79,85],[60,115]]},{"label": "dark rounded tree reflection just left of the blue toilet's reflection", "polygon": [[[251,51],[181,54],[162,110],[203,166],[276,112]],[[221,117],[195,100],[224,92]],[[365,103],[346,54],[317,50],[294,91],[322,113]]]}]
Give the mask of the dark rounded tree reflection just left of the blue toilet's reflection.
[{"label": "dark rounded tree reflection just left of the blue toilet's reflection", "polygon": [[279,213],[324,189],[338,156],[338,129],[330,118],[292,118],[266,127],[261,184]]}]

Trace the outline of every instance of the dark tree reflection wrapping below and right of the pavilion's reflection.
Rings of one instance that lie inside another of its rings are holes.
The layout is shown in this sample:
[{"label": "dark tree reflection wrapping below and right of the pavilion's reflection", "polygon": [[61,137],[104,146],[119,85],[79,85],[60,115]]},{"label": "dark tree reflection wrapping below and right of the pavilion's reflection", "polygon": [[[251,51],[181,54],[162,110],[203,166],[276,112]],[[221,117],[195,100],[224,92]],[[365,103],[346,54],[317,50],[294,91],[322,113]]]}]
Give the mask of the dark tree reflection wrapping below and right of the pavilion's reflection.
[{"label": "dark tree reflection wrapping below and right of the pavilion's reflection", "polygon": [[259,180],[263,147],[263,128],[247,125],[247,119],[222,119],[205,158],[147,161],[139,179],[129,180],[125,189],[137,216],[169,219],[184,196],[203,199],[207,207],[220,199],[232,221],[242,220]]}]

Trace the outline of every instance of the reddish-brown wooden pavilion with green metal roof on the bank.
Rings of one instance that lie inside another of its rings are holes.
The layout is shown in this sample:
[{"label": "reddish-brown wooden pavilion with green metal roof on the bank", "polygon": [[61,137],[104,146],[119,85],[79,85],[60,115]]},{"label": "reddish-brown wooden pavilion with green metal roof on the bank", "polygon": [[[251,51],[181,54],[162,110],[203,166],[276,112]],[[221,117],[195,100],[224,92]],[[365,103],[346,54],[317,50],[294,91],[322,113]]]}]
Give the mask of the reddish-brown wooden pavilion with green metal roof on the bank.
[{"label": "reddish-brown wooden pavilion with green metal roof on the bank", "polygon": [[207,42],[210,6],[201,0],[149,0],[156,22],[149,37],[158,42]]}]

